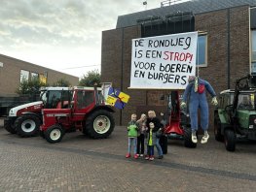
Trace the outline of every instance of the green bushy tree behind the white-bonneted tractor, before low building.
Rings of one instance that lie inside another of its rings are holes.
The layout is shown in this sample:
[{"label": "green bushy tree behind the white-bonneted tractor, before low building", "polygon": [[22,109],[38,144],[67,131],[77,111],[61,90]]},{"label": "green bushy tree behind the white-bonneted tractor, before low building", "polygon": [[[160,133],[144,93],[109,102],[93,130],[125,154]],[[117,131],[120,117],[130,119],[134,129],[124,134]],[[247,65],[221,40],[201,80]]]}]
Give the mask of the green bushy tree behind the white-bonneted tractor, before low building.
[{"label": "green bushy tree behind the white-bonneted tractor, before low building", "polygon": [[18,86],[18,94],[35,94],[39,93],[41,86],[46,86],[46,83],[40,82],[39,79],[22,80]]}]

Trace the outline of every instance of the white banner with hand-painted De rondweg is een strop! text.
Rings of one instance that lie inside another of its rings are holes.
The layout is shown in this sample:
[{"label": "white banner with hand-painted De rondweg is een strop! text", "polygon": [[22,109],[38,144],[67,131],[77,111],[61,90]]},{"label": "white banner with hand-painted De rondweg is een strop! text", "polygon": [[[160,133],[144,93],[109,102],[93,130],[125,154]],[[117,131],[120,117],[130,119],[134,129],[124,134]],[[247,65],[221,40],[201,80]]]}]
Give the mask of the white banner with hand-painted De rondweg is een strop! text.
[{"label": "white banner with hand-painted De rondweg is een strop! text", "polygon": [[185,89],[196,75],[198,32],[132,40],[130,87]]}]

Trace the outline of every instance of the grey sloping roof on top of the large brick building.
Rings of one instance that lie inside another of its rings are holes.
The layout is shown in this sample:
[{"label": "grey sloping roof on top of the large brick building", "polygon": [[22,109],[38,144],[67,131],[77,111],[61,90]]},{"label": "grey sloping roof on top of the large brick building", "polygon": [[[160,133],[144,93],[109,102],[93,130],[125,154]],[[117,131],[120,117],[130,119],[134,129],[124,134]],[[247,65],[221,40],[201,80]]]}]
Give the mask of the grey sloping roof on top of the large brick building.
[{"label": "grey sloping roof on top of the large brick building", "polygon": [[116,28],[136,25],[137,19],[143,19],[151,16],[162,16],[165,18],[166,15],[179,12],[193,12],[197,15],[243,5],[254,7],[256,6],[256,0],[191,0],[162,8],[118,16]]}]

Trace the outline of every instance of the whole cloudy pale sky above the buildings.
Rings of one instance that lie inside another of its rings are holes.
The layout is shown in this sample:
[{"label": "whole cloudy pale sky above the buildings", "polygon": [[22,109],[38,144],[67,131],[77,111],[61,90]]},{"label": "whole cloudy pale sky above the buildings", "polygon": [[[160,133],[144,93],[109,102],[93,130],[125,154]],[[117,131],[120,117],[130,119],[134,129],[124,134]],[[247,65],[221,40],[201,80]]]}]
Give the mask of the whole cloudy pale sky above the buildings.
[{"label": "whole cloudy pale sky above the buildings", "polygon": [[[163,0],[148,0],[147,9]],[[101,32],[143,0],[0,0],[0,53],[81,78],[100,71]],[[91,66],[91,67],[86,67]]]}]

